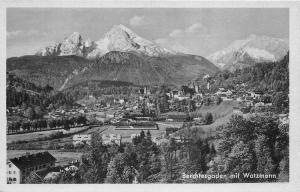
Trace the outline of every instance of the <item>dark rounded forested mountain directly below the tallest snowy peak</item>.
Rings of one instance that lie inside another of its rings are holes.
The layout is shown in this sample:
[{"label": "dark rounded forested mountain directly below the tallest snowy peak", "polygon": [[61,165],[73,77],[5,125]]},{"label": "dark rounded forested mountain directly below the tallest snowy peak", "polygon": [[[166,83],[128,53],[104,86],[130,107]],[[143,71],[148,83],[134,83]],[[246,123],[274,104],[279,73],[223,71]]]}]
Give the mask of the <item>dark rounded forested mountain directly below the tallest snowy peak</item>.
[{"label": "dark rounded forested mountain directly below the tallest snowy peak", "polygon": [[218,68],[203,57],[170,55],[151,57],[130,52],[111,51],[89,69],[72,79],[127,81],[136,85],[184,84],[199,74],[213,74]]}]

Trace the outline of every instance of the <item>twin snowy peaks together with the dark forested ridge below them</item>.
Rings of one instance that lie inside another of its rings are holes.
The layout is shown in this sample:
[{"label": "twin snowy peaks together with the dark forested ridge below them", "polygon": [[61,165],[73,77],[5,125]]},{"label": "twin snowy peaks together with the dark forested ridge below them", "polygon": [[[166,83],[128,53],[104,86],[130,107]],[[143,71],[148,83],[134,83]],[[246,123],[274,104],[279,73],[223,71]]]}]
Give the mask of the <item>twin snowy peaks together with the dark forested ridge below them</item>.
[{"label": "twin snowy peaks together with the dark forested ridge below them", "polygon": [[93,80],[183,85],[219,68],[204,57],[168,50],[117,25],[99,41],[83,40],[74,32],[33,56],[9,58],[7,70],[38,85],[64,90]]}]

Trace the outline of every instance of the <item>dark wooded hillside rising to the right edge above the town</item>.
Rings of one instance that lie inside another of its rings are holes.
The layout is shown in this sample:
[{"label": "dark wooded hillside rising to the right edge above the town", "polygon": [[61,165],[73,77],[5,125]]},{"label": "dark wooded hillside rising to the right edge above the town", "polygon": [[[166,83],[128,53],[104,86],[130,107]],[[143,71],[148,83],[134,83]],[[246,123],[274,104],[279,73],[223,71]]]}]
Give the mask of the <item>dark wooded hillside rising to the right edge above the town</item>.
[{"label": "dark wooded hillside rising to the right edge above the town", "polygon": [[257,63],[234,72],[218,72],[211,78],[211,89],[216,91],[220,87],[268,93],[275,110],[286,113],[289,109],[289,54],[278,62]]}]

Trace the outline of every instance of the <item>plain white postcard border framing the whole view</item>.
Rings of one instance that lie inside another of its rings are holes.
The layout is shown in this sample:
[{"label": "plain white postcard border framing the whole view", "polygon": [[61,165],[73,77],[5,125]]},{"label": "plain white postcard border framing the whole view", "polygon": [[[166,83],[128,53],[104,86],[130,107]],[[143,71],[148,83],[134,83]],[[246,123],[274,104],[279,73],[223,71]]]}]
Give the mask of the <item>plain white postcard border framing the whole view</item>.
[{"label": "plain white postcard border framing the whole view", "polygon": [[[290,182],[260,184],[76,184],[7,185],[6,183],[6,8],[7,7],[106,7],[106,8],[289,8],[290,9]],[[300,4],[297,1],[0,1],[0,191],[300,191]]]}]

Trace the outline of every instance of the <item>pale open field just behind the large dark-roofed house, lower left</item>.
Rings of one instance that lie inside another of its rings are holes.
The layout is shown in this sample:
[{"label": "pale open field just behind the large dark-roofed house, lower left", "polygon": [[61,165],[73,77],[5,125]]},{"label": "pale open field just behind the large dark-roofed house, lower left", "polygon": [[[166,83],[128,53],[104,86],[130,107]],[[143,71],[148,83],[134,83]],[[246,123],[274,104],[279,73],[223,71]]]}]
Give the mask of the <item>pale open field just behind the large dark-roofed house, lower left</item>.
[{"label": "pale open field just behind the large dark-roofed house, lower left", "polygon": [[[43,152],[45,150],[7,150],[7,159],[19,157],[26,152],[31,154]],[[62,152],[59,150],[48,150],[56,158],[56,165],[65,165],[71,161],[80,160],[82,152]]]}]

